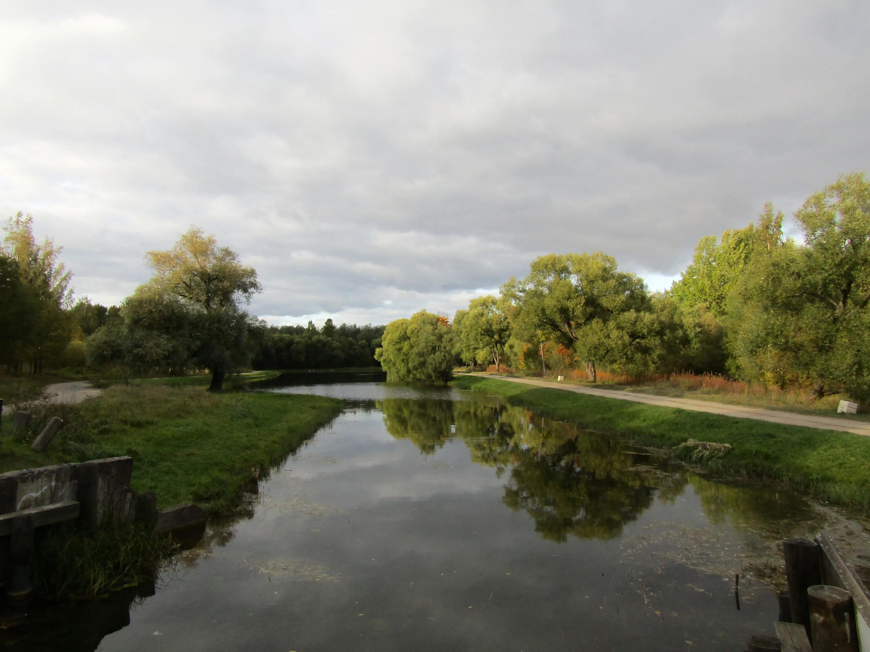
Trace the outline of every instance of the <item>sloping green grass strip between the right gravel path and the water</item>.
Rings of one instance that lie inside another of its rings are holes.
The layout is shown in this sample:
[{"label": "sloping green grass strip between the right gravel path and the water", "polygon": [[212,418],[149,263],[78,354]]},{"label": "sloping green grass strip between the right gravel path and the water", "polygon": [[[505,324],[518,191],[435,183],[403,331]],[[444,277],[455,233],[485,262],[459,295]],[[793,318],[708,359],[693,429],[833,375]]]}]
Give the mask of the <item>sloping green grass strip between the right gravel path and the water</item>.
[{"label": "sloping green grass strip between the right gravel path and the water", "polygon": [[502,396],[509,403],[584,428],[657,448],[690,459],[692,449],[677,448],[689,438],[730,444],[718,458],[694,460],[723,476],[787,482],[813,496],[870,510],[870,437],[691,412],[615,398],[588,396],[564,389],[480,376],[459,376],[452,385]]}]

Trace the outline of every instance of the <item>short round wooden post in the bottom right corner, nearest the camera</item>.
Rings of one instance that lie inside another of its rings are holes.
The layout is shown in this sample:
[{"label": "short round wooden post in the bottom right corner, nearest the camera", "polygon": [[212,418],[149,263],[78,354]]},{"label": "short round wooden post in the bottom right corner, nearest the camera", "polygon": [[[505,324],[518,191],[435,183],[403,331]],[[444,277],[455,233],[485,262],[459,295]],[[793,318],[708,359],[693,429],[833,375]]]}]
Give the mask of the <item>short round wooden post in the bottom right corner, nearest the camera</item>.
[{"label": "short round wooden post in the bottom right corner, nearest the camera", "polygon": [[858,652],[852,594],[819,584],[807,590],[813,652]]}]

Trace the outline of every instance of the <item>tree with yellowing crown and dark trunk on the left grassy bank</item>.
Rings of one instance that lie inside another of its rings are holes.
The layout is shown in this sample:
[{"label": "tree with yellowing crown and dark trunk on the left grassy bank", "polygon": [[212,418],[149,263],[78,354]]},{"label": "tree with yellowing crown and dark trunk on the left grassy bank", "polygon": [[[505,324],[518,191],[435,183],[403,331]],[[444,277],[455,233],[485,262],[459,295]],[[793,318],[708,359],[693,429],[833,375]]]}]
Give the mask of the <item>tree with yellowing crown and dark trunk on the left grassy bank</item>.
[{"label": "tree with yellowing crown and dark trunk on the left grassy bank", "polygon": [[241,306],[262,289],[257,271],[243,265],[229,247],[219,247],[215,236],[193,226],[172,249],[149,251],[145,262],[154,276],[137,294],[175,297],[190,310],[193,360],[211,371],[209,389],[221,389],[228,372],[250,362],[246,334],[251,316]]}]

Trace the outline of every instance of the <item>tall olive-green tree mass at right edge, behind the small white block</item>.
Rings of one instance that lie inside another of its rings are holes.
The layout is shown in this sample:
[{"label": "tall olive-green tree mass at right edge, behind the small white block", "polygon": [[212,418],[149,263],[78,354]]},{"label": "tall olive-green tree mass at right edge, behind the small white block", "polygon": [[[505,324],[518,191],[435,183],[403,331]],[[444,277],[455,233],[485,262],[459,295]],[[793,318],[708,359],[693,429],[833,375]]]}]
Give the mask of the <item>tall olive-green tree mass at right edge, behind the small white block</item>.
[{"label": "tall olive-green tree mass at right edge, behind the small white block", "polygon": [[817,396],[870,398],[870,183],[843,176],[795,214],[805,245],[781,238],[768,209],[746,275],[728,303],[734,369],[750,380],[804,384]]}]

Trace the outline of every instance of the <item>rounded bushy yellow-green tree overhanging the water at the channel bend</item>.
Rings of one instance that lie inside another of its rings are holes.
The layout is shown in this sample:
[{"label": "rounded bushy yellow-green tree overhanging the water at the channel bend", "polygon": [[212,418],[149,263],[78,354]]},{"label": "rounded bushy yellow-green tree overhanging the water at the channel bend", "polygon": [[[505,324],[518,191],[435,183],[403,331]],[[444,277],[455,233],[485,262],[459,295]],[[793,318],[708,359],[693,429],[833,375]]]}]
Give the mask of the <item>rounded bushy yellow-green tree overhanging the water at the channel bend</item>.
[{"label": "rounded bushy yellow-green tree overhanging the water at the channel bend", "polygon": [[444,383],[452,378],[453,339],[445,317],[421,310],[386,325],[375,359],[390,380]]}]

